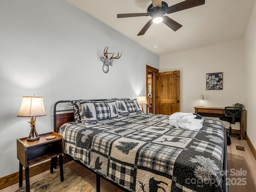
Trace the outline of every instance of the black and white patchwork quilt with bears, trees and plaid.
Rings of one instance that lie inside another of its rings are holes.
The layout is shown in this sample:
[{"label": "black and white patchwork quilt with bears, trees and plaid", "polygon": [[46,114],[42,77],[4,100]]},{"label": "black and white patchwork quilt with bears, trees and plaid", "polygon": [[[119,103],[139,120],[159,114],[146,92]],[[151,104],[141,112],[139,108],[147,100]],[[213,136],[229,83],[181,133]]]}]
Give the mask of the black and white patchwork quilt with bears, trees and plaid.
[{"label": "black and white patchwork quilt with bears, trees and plaid", "polygon": [[64,153],[133,192],[222,192],[224,125],[200,131],[170,126],[169,116],[139,114],[59,129]]}]

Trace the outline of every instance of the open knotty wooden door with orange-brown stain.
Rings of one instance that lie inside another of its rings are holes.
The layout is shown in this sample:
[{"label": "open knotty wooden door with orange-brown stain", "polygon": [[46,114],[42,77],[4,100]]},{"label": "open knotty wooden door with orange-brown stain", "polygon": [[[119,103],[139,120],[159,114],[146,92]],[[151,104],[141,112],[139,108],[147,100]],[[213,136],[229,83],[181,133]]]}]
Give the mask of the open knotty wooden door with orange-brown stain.
[{"label": "open knotty wooden door with orange-brown stain", "polygon": [[180,71],[155,74],[155,113],[180,112]]}]

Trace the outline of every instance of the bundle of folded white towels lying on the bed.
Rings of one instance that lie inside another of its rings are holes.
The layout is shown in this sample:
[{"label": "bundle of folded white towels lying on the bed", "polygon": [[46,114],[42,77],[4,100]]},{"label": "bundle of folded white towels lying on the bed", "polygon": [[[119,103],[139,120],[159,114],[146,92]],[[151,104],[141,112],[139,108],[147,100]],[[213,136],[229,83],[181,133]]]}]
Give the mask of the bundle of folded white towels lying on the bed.
[{"label": "bundle of folded white towels lying on the bed", "polygon": [[177,128],[199,131],[202,128],[202,119],[195,119],[192,113],[176,112],[169,117],[169,124]]}]

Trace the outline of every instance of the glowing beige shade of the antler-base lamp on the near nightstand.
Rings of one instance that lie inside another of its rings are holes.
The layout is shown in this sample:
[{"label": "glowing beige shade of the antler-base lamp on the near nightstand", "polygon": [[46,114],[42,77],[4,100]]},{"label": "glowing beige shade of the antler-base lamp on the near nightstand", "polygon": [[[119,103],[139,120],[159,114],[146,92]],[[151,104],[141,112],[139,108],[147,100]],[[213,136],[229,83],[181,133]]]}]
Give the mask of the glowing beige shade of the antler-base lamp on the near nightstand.
[{"label": "glowing beige shade of the antler-base lamp on the near nightstand", "polygon": [[45,116],[43,97],[24,96],[18,112],[18,117]]}]

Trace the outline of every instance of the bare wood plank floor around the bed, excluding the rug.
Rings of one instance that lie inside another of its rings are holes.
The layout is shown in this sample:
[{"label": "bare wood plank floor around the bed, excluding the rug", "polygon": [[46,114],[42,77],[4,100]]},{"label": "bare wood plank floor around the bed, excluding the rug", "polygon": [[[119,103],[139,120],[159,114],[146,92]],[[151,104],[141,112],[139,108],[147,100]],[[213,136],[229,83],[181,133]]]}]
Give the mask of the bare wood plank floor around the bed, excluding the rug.
[{"label": "bare wood plank floor around the bed, excluding the rug", "polygon": [[[228,146],[228,174],[229,174],[229,192],[255,192],[256,191],[256,161],[252,155],[252,152],[246,142],[246,140],[238,140],[237,138],[231,137],[232,145]],[[245,151],[236,150],[236,146],[243,146]],[[63,167],[70,167],[76,174],[82,176],[86,182],[90,183],[96,188],[96,176],[93,172],[90,172],[78,163],[71,161],[65,163]],[[54,170],[59,172],[59,169]],[[231,174],[231,176],[230,176]],[[243,174],[243,175],[239,175]],[[50,170],[43,172],[39,175],[30,178],[30,183],[40,180],[50,175]],[[235,176],[233,176],[235,175]],[[64,180],[65,181],[65,180]],[[101,182],[101,192],[122,192],[116,186],[110,184],[104,179]],[[239,185],[239,184],[245,185]],[[23,186],[25,181],[23,181]],[[13,192],[19,188],[19,184],[14,184],[8,188],[0,190],[0,192]]]}]

